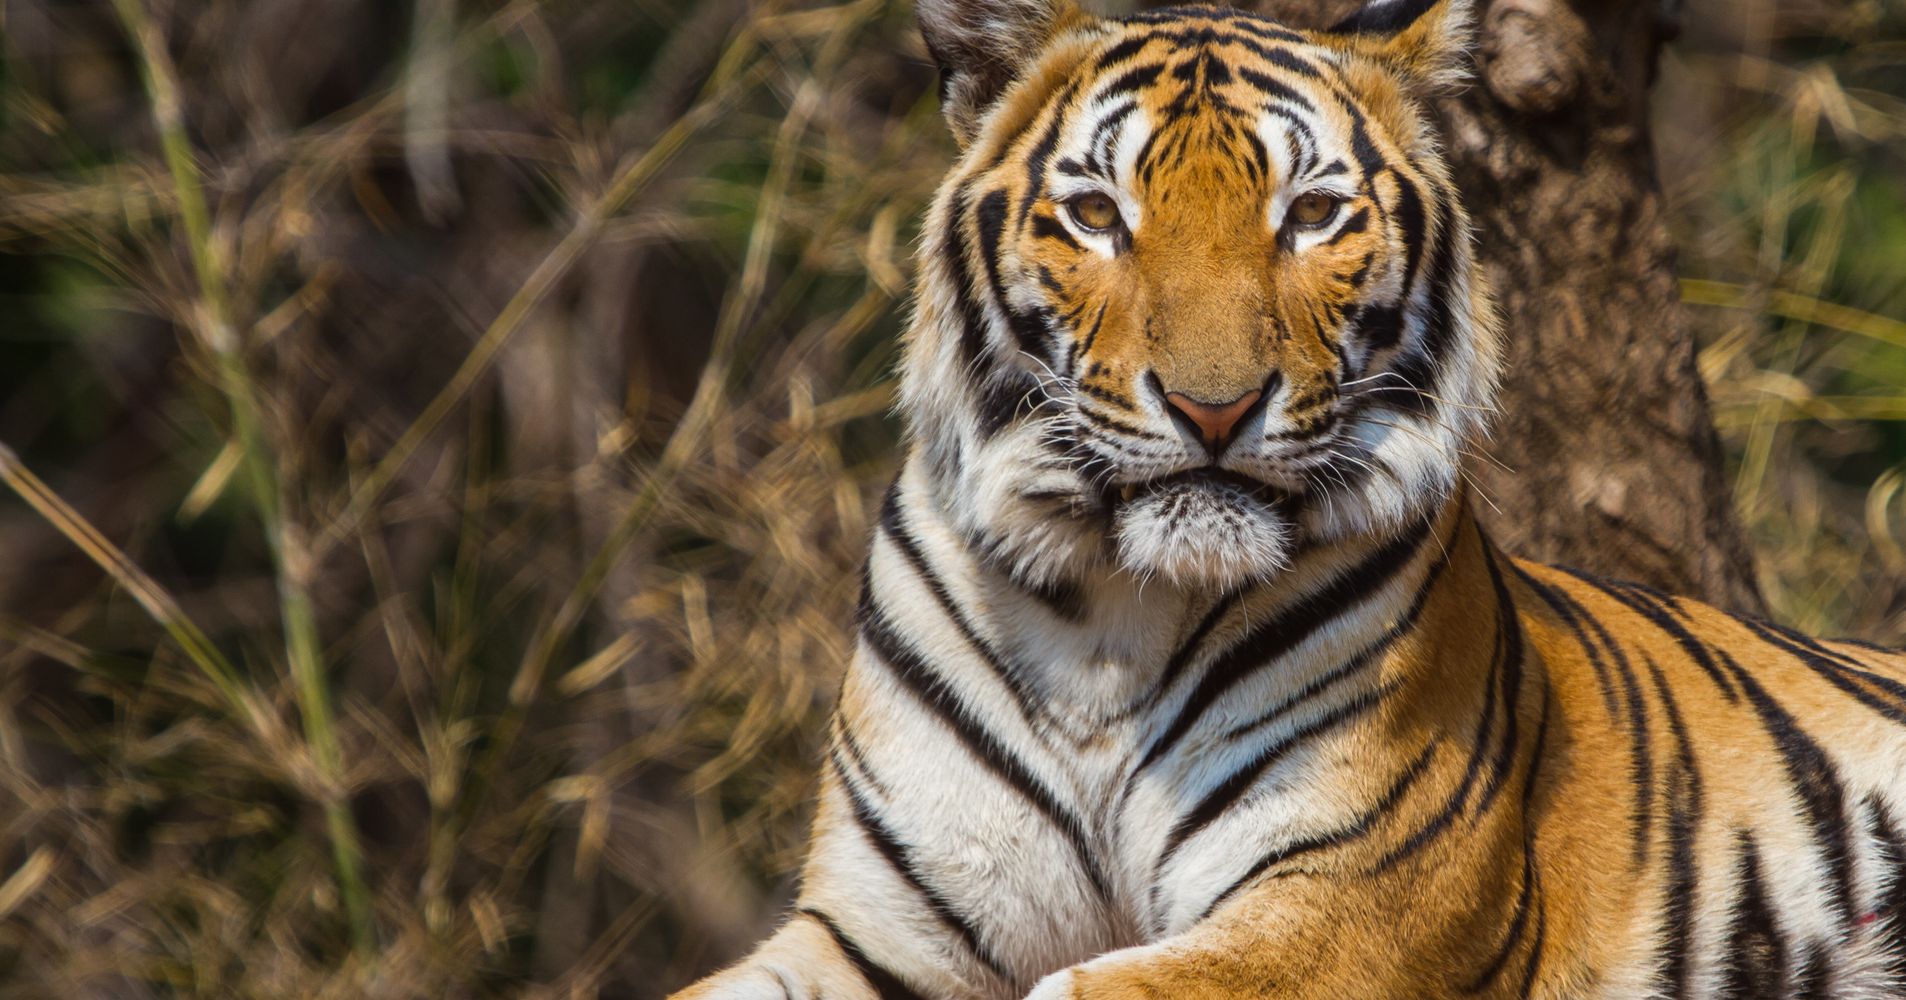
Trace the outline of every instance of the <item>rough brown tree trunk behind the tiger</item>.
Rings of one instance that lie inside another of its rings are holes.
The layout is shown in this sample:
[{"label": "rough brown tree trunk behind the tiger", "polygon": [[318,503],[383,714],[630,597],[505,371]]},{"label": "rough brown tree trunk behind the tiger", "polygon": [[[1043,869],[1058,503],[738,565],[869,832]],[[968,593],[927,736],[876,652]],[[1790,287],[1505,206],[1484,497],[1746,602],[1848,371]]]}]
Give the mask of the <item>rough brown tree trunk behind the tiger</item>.
[{"label": "rough brown tree trunk behind the tiger", "polygon": [[[1300,27],[1346,0],[1260,0]],[[1649,135],[1660,0],[1485,0],[1437,101],[1510,341],[1471,478],[1511,552],[1763,611],[1734,518]]]}]

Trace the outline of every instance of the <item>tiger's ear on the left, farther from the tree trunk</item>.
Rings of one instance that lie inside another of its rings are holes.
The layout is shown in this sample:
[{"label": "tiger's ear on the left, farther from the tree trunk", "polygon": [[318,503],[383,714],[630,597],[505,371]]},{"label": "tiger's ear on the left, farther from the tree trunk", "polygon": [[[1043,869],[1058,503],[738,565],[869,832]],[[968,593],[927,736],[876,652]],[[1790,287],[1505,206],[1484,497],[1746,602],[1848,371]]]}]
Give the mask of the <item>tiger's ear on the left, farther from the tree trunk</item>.
[{"label": "tiger's ear on the left, farther from the tree trunk", "polygon": [[926,51],[940,63],[940,109],[959,145],[1067,21],[1071,0],[917,0]]}]

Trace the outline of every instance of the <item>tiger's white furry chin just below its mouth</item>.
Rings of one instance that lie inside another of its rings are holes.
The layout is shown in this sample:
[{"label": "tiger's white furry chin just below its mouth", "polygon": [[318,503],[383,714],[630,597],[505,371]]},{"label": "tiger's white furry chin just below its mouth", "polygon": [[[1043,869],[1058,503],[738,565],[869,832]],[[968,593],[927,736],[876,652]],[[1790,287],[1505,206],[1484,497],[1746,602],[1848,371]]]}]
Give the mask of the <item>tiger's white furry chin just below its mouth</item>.
[{"label": "tiger's white furry chin just below its mouth", "polygon": [[1231,587],[1290,566],[1296,531],[1283,510],[1212,482],[1132,497],[1117,514],[1119,562],[1172,583]]}]

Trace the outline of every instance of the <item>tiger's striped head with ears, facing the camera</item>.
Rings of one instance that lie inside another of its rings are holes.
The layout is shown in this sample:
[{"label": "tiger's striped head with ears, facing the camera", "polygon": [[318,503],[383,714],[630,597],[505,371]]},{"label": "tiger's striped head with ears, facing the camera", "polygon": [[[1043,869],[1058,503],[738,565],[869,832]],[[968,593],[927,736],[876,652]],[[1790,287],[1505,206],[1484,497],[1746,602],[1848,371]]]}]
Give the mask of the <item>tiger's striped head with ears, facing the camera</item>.
[{"label": "tiger's striped head with ears, facing the camera", "polygon": [[972,545],[1031,585],[1233,587],[1450,495],[1500,354],[1424,105],[1468,0],[917,8],[963,152],[902,410]]}]

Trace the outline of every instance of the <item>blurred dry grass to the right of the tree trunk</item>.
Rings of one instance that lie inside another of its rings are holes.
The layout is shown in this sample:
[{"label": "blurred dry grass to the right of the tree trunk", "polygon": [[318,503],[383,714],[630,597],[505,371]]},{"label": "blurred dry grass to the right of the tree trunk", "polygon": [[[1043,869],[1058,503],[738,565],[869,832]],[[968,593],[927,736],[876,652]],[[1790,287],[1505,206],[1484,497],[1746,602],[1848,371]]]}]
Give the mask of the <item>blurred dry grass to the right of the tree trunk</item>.
[{"label": "blurred dry grass to the right of the tree trunk", "polygon": [[1906,642],[1906,10],[1704,17],[1656,91],[1683,299],[1778,617]]}]

